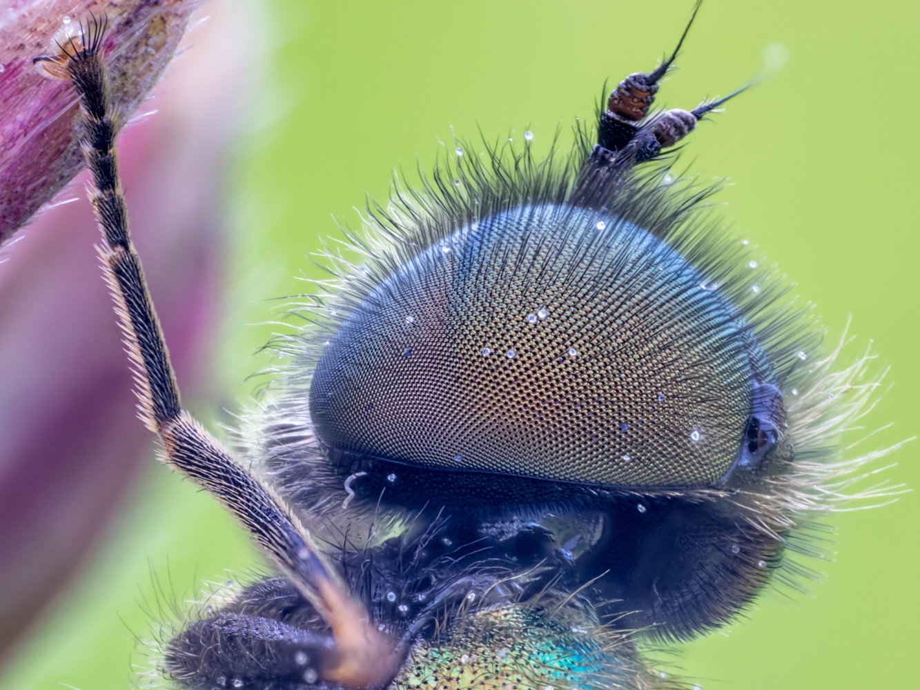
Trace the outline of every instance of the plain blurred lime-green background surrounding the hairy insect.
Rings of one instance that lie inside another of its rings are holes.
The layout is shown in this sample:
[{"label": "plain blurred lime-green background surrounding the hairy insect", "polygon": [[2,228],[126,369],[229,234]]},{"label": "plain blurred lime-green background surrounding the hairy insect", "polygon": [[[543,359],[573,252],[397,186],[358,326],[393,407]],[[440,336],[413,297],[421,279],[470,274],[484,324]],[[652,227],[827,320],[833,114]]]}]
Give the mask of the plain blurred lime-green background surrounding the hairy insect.
[{"label": "plain blurred lime-green background surrounding the hairy insect", "polygon": [[[214,366],[224,394],[199,414],[226,420],[220,410],[252,394],[259,379],[247,374],[268,362],[255,352],[281,327],[251,324],[275,317],[271,298],[305,291],[295,276],[319,276],[309,258],[317,237],[334,235],[337,220],[355,223],[365,191],[384,199],[393,167],[430,169],[452,127],[470,138],[530,129],[535,144],[560,125],[568,132],[574,116],[592,118],[605,78],[648,70],[671,49],[691,6],[267,2],[265,40],[252,29],[266,71],[230,172],[233,261]],[[880,366],[891,365],[893,385],[866,423],[894,425],[866,450],[920,426],[918,35],[915,0],[707,0],[659,101],[696,106],[745,83],[765,49],[788,53],[772,79],[694,132],[683,160],[703,178],[730,178],[719,195],[726,223],[798,282],[832,339],[852,315],[858,342],[874,339]],[[920,487],[918,452],[909,444],[892,458],[892,481]],[[213,500],[153,460],[129,502],[0,687],[128,687],[133,667],[148,664],[135,637],[155,630],[155,581],[182,602],[202,580],[259,567]],[[916,686],[917,497],[830,522],[836,555],[815,564],[826,583],[807,595],[767,592],[673,664],[706,688]]]}]

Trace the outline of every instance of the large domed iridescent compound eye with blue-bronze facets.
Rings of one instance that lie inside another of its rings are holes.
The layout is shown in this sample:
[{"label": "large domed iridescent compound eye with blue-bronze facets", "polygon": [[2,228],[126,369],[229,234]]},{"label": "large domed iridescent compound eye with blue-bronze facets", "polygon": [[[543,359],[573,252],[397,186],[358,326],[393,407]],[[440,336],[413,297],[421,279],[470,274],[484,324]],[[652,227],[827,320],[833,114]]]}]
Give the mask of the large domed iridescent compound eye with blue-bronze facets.
[{"label": "large domed iridescent compound eye with blue-bronze facets", "polygon": [[766,403],[752,417],[752,401],[776,386],[707,278],[609,213],[522,206],[466,224],[331,339],[310,394],[316,433],[431,468],[712,485],[739,454],[765,453],[775,423]]}]

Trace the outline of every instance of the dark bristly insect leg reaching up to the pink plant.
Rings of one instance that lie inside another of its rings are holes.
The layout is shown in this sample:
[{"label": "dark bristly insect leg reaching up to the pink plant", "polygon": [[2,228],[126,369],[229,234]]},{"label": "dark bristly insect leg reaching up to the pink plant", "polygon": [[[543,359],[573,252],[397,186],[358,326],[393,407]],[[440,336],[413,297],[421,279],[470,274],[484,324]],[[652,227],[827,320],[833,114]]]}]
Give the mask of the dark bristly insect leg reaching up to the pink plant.
[{"label": "dark bristly insect leg reaching up to the pink plant", "polygon": [[337,661],[325,664],[324,680],[352,687],[385,684],[396,667],[393,645],[371,627],[363,606],[351,598],[277,494],[236,462],[180,406],[166,342],[128,228],[115,151],[119,123],[109,102],[101,52],[106,26],[105,17],[92,17],[85,26],[81,24],[79,35],[59,43],[59,54],[36,62],[45,75],[69,79],[80,98],[80,144],[92,173],[89,196],[104,242],[99,251],[128,342],[141,419],[163,439],[167,464],[224,503],[326,618]]}]

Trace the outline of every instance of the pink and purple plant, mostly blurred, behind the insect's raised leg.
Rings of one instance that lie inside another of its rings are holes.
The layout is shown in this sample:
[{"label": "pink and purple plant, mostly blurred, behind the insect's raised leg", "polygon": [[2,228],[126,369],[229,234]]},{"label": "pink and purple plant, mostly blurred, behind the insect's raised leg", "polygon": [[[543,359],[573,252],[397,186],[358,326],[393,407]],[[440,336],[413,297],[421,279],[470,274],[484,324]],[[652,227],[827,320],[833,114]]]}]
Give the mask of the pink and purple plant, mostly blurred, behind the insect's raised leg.
[{"label": "pink and purple plant, mostly blurred, behind the insect's raised leg", "polygon": [[[246,64],[207,6],[193,50],[157,80],[200,6],[183,0],[20,2],[0,10],[0,242],[83,167],[70,86],[36,74],[63,22],[109,17],[107,59],[132,234],[183,391],[200,387],[224,259],[222,185]],[[249,28],[251,30],[251,28]],[[245,81],[245,80],[244,80]],[[245,85],[244,85],[245,86]],[[150,455],[98,267],[81,178],[0,247],[0,654],[73,576]],[[73,202],[72,202],[73,201]]]}]

